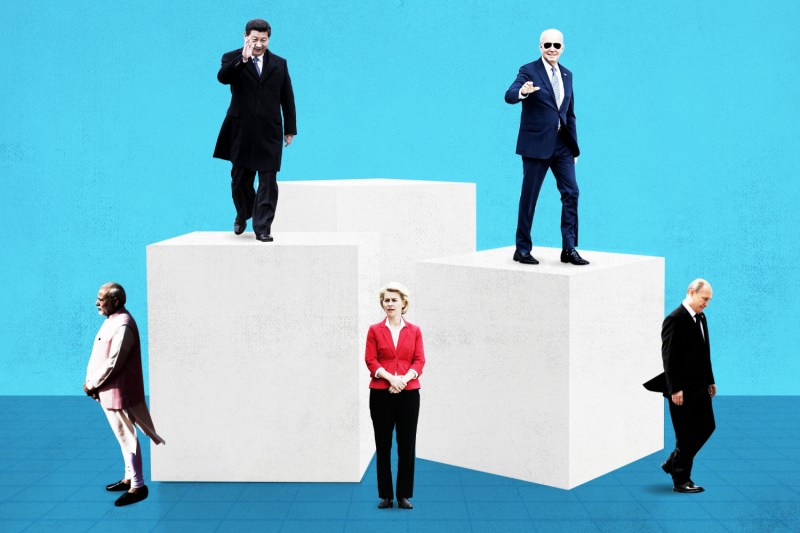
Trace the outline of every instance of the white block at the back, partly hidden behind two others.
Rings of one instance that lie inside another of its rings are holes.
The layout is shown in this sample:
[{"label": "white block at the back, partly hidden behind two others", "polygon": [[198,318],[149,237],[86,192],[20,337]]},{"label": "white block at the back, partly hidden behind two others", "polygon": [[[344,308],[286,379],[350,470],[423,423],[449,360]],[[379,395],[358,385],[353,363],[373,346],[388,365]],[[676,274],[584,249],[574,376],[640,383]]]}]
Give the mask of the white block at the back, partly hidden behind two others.
[{"label": "white block at the back, partly hidden behind two others", "polygon": [[381,282],[413,290],[416,261],[475,251],[475,184],[395,179],[281,181],[272,233],[377,231]]}]

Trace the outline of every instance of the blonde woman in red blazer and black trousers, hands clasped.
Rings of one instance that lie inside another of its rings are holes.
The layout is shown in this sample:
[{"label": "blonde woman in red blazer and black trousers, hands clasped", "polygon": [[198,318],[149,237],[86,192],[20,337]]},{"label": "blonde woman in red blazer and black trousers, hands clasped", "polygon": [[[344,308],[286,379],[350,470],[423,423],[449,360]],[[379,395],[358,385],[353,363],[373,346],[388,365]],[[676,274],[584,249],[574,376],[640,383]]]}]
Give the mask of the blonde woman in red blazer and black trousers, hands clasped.
[{"label": "blonde woman in red blazer and black trousers, hands clasped", "polygon": [[375,430],[379,509],[394,505],[392,490],[392,432],[397,428],[397,506],[413,509],[414,448],[419,417],[419,376],[425,366],[422,333],[403,320],[410,304],[408,289],[392,282],[380,290],[386,319],[367,333],[365,360],[369,384],[369,412]]}]

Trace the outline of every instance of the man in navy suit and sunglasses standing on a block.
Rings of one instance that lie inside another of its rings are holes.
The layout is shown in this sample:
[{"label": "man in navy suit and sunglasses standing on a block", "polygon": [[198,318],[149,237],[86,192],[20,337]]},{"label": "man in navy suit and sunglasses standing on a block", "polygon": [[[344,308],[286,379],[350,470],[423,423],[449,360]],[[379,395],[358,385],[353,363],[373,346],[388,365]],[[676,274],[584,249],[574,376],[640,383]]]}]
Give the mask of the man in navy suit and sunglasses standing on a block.
[{"label": "man in navy suit and sunglasses standing on a block", "polygon": [[522,102],[517,154],[522,156],[522,193],[517,219],[517,249],[514,261],[538,265],[531,255],[531,225],[536,199],[547,169],[553,171],[561,193],[561,262],[588,265],[578,244],[578,133],[575,128],[572,72],[558,64],[564,51],[564,36],[545,30],[539,38],[542,57],[519,69],[506,91],[506,102]]}]

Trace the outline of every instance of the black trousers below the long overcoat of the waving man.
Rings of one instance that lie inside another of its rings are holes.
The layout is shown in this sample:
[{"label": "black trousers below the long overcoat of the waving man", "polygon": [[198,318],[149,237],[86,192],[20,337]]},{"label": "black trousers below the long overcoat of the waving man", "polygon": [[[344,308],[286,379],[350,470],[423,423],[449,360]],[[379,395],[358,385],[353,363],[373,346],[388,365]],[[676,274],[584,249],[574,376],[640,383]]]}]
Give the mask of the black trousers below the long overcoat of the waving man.
[{"label": "black trousers below the long overcoat of the waving man", "polygon": [[236,220],[244,224],[253,219],[257,235],[268,234],[278,207],[278,176],[276,172],[258,172],[258,192],[253,189],[256,171],[233,166],[231,169],[231,196],[236,207]]}]

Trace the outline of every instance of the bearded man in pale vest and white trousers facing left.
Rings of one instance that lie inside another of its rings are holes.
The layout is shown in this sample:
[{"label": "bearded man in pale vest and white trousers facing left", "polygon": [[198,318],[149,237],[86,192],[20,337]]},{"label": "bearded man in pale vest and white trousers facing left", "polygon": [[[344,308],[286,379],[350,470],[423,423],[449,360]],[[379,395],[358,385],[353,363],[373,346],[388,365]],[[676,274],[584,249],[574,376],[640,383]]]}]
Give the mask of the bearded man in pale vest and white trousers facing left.
[{"label": "bearded man in pale vest and white trousers facing left", "polygon": [[106,320],[95,336],[83,390],[103,406],[122,449],[125,474],[120,481],[106,486],[108,491],[125,491],[114,502],[121,507],[147,498],[136,426],[156,444],[163,444],[164,439],[156,433],[144,401],[139,330],[125,309],[125,289],[117,283],[106,283],[97,292],[95,305]]}]

